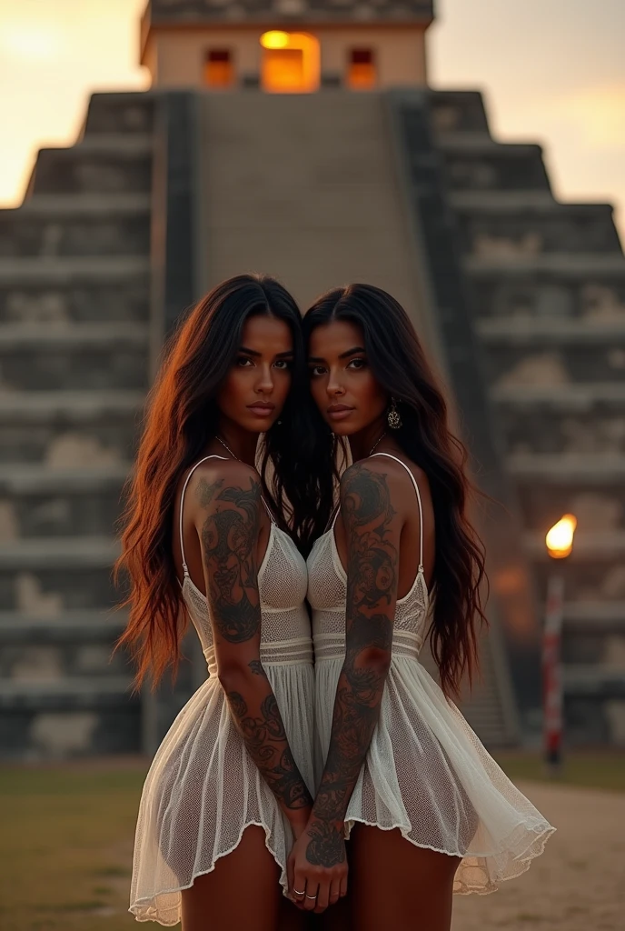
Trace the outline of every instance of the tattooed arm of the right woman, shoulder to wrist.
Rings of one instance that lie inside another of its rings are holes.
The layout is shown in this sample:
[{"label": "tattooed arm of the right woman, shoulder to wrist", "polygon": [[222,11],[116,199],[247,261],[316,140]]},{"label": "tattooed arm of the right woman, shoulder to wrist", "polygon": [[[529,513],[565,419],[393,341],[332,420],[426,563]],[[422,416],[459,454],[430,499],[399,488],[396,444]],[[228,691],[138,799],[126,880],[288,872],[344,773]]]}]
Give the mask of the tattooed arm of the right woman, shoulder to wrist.
[{"label": "tattooed arm of the right woman, shoulder to wrist", "polygon": [[386,476],[352,466],[341,479],[340,506],[349,549],[345,660],[326,767],[307,828],[306,856],[324,867],[344,857],[343,821],[379,718],[397,595],[398,533]]}]

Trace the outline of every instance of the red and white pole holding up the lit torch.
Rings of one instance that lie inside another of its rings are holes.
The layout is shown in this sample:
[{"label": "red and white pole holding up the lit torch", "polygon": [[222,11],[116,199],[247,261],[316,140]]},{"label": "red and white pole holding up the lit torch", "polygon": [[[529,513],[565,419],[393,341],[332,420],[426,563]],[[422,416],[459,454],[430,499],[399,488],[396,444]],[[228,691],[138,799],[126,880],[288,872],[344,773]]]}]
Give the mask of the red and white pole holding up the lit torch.
[{"label": "red and white pole holding up the lit torch", "polygon": [[555,775],[562,764],[563,682],[562,622],[565,580],[552,573],[547,581],[547,610],[542,639],[544,753],[548,771]]}]

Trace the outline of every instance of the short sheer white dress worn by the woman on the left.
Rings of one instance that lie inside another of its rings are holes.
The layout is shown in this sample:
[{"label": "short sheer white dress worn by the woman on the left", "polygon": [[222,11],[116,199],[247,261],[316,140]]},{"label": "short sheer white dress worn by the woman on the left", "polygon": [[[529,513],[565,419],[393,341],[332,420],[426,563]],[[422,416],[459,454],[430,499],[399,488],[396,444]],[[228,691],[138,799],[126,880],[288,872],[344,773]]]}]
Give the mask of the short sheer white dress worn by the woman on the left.
[{"label": "short sheer white dress worn by the woman on the left", "polygon": [[[199,465],[193,466],[182,490],[180,543],[184,492]],[[180,922],[180,890],[213,870],[219,857],[234,850],[249,825],[264,829],[285,892],[286,858],[293,845],[288,820],[234,725],[217,678],[206,597],[191,581],[184,549],[182,560],[182,598],[202,643],[209,675],[167,732],[141,795],[129,911],[140,922],[160,924]],[[299,772],[313,791],[314,671],[304,604],[306,563],[273,519],[258,577],[260,660]]]}]

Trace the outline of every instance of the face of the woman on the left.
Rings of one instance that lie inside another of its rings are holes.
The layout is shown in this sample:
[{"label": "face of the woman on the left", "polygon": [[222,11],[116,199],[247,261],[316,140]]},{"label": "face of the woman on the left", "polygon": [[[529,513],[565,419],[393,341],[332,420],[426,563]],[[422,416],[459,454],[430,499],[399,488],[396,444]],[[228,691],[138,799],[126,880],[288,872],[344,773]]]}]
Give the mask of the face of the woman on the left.
[{"label": "face of the woman on the left", "polygon": [[293,337],[284,320],[249,317],[241,345],[223,384],[222,415],[252,433],[264,433],[285,406],[291,387]]}]

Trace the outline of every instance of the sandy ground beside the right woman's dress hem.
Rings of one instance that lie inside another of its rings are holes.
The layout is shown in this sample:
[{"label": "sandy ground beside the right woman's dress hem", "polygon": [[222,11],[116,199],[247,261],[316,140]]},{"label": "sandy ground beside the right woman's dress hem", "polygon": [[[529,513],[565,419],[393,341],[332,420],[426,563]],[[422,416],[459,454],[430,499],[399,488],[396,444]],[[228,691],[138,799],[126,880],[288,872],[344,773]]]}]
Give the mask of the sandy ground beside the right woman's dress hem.
[{"label": "sandy ground beside the right woman's dress hem", "polygon": [[557,831],[523,876],[491,896],[457,896],[452,931],[624,931],[625,794],[519,788]]}]

